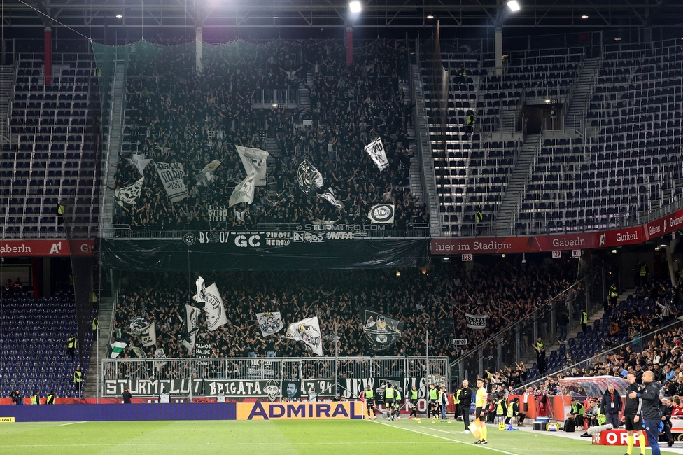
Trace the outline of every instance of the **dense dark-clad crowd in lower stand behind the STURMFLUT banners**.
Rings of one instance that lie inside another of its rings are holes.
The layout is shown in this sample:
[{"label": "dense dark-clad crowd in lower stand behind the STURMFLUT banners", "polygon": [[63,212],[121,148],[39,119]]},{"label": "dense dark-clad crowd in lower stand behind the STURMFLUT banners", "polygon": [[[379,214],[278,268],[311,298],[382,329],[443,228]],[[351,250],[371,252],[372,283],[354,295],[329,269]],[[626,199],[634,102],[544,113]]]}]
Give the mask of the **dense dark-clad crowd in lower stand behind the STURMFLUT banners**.
[{"label": "dense dark-clad crowd in lower stand behind the STURMFLUT banners", "polygon": [[[265,339],[261,336],[255,314],[280,311],[285,326],[317,315],[326,355],[334,352],[330,335],[335,327],[340,337],[340,356],[374,355],[376,352],[369,349],[362,335],[361,309],[369,307],[405,324],[402,338],[381,355],[422,355],[425,333],[429,332],[430,355],[455,358],[458,351],[452,343],[454,337],[469,336],[472,341],[467,348],[476,347],[482,337],[500,328],[502,321],[518,317],[519,311],[533,309],[537,297],[544,299],[563,290],[571,275],[565,265],[531,265],[525,272],[501,262],[495,272],[500,279],[488,280],[489,289],[482,288],[485,277],[492,274],[493,267],[482,266],[468,278],[459,265],[451,273],[448,264],[404,270],[400,276],[393,269],[211,274],[204,279],[207,284],[216,281],[228,323],[214,332],[200,330],[197,342],[211,344],[215,357],[265,356],[267,351],[276,351],[278,356],[308,355],[302,344],[278,336]],[[509,287],[516,290],[506,293]],[[148,355],[156,347],[164,347],[167,356],[188,356],[181,344],[185,336],[182,308],[184,304],[194,305],[191,296],[195,292],[194,278],[188,285],[185,275],[131,275],[120,293],[114,329],[125,333],[132,318],[143,316],[148,322],[156,323],[157,346],[150,346]],[[490,314],[490,329],[465,328],[467,311]],[[206,327],[203,318],[200,316],[199,325]],[[139,346],[134,338],[130,342]],[[134,358],[129,350],[122,357],[127,356]]]}]

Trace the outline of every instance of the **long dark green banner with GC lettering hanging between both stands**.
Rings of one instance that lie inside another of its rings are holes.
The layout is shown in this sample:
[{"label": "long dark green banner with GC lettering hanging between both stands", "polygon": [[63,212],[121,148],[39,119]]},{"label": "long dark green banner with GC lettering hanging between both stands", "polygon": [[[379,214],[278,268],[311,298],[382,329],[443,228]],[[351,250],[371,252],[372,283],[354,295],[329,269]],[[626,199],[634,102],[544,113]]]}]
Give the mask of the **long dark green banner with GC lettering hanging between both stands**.
[{"label": "long dark green banner with GC lettering hanging between both stands", "polygon": [[152,272],[379,269],[428,263],[429,239],[331,234],[211,232],[206,237],[186,232],[182,239],[101,239],[101,263],[111,269]]}]

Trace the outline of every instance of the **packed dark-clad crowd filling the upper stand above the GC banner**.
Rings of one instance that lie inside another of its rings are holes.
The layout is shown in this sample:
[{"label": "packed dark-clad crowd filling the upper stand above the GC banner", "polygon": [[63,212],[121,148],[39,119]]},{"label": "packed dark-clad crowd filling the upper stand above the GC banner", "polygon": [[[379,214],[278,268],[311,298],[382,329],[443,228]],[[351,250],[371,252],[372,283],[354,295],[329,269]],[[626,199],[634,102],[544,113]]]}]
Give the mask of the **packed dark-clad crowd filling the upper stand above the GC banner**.
[{"label": "packed dark-clad crowd filling the upper stand above the GC banner", "polygon": [[[402,45],[357,46],[347,66],[344,49],[334,41],[236,41],[204,45],[203,71],[194,66],[193,43],[135,45],[127,68],[129,146],[118,162],[115,188],[140,178],[126,158],[141,153],[181,163],[189,197],[172,204],[148,165],[141,196],[118,210],[115,224],[132,230],[225,230],[257,223],[367,223],[369,207],[382,202],[396,204],[397,229],[426,223],[423,201],[409,190],[412,107],[400,87],[408,67]],[[261,89],[308,91],[311,108],[252,109],[251,99]],[[363,152],[378,137],[389,161],[384,171]],[[246,175],[234,145],[265,148],[266,138],[280,149],[268,160],[267,186],[256,187],[253,204],[232,207],[227,221],[209,221],[207,207],[227,207]],[[342,209],[298,188],[304,159],[323,174],[323,189],[332,190]],[[221,161],[213,183],[197,185],[212,160]]]}]

